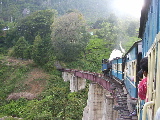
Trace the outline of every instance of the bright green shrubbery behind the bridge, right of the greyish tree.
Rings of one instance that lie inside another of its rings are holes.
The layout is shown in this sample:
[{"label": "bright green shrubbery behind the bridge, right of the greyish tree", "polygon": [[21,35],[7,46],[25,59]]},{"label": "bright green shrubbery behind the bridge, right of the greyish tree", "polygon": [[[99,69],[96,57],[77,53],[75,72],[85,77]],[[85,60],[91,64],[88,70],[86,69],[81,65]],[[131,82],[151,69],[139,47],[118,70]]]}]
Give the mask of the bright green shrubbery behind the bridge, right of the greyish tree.
[{"label": "bright green shrubbery behind the bridge, right of the greyish tree", "polygon": [[89,40],[85,49],[85,67],[91,72],[100,72],[102,59],[108,59],[111,49],[106,47],[107,43],[104,39],[97,37]]}]

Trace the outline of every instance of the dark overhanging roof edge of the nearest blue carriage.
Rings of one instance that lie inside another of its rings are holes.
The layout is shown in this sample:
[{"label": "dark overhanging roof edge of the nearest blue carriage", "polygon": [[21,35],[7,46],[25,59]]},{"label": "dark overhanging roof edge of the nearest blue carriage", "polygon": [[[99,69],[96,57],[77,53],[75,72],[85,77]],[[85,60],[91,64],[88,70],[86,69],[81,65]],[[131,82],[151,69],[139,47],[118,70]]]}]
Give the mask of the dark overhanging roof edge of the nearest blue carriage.
[{"label": "dark overhanging roof edge of the nearest blue carriage", "polygon": [[141,10],[141,17],[140,17],[140,28],[139,28],[139,38],[143,37],[143,33],[146,27],[146,22],[148,20],[148,12],[150,8],[152,0],[144,0],[144,6],[142,7]]}]

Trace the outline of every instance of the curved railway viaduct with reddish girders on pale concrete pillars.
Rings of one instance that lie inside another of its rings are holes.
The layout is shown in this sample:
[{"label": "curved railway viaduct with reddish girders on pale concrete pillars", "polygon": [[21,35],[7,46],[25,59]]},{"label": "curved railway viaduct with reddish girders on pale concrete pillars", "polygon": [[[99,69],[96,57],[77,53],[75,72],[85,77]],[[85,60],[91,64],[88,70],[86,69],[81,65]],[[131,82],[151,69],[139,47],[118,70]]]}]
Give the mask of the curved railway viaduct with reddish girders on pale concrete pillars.
[{"label": "curved railway viaduct with reddish girders on pale concrete pillars", "polygon": [[129,116],[127,92],[116,79],[80,70],[60,70],[64,81],[70,81],[71,92],[84,89],[86,79],[91,81],[82,120],[136,120]]}]

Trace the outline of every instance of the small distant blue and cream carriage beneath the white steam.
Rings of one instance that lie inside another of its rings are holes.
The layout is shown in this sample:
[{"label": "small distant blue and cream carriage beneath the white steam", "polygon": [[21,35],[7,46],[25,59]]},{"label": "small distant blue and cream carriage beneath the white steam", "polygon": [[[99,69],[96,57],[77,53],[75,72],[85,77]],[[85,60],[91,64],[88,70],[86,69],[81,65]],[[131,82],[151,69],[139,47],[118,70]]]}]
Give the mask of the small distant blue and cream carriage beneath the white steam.
[{"label": "small distant blue and cream carriage beneath the white steam", "polygon": [[116,57],[112,60],[112,76],[122,81],[123,80],[123,69],[122,69],[123,58]]}]

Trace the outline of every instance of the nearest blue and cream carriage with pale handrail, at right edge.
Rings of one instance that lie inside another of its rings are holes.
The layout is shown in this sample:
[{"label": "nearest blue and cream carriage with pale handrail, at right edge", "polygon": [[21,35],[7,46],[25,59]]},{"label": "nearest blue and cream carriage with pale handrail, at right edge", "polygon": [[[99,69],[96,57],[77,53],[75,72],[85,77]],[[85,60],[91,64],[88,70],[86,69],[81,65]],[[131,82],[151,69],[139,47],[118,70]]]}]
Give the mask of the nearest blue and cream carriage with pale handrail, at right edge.
[{"label": "nearest blue and cream carriage with pale handrail, at right edge", "polygon": [[143,57],[148,57],[148,80],[143,115],[139,120],[154,120],[160,108],[160,1],[145,0],[144,3],[139,37],[142,38]]}]

